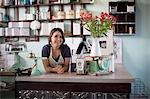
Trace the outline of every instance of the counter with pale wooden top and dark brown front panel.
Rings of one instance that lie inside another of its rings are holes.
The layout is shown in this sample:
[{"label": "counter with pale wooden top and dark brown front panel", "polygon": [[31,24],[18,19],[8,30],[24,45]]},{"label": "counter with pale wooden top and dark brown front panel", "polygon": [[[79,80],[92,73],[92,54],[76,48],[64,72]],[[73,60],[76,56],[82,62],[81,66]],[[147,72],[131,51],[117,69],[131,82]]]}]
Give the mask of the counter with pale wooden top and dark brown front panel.
[{"label": "counter with pale wooden top and dark brown front panel", "polygon": [[134,78],[122,64],[115,64],[115,72],[102,75],[77,75],[76,73],[43,74],[16,77],[19,90],[52,90],[69,92],[130,93]]}]

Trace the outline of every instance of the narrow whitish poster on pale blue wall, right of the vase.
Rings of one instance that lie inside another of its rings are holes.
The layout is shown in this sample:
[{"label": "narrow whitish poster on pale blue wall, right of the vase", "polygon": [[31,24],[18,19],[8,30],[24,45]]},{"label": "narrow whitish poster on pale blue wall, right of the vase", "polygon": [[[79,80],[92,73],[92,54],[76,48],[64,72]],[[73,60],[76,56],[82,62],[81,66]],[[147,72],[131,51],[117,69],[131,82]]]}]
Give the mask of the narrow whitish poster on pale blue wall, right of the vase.
[{"label": "narrow whitish poster on pale blue wall, right of the vase", "polygon": [[115,63],[122,63],[122,40],[114,38],[114,58]]}]

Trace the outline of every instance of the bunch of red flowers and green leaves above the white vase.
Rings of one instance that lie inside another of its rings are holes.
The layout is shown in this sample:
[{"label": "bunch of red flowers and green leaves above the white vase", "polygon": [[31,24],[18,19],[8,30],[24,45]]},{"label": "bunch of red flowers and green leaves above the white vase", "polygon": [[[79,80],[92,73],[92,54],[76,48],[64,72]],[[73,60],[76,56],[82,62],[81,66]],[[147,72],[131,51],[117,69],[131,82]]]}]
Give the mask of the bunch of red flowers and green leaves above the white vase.
[{"label": "bunch of red flowers and green leaves above the white vase", "polygon": [[108,30],[111,30],[116,22],[116,18],[106,12],[101,12],[96,16],[93,16],[92,12],[83,12],[80,16],[82,25],[86,26],[94,38],[107,36]]}]

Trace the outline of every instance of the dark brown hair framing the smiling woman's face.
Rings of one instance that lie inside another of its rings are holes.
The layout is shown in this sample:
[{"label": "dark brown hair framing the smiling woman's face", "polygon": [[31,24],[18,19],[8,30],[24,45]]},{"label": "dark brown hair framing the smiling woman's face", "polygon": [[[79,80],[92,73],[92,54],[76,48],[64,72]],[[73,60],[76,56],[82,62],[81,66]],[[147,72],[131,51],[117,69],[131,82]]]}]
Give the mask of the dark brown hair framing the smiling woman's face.
[{"label": "dark brown hair framing the smiling woman's face", "polygon": [[[62,29],[61,29],[61,28],[53,28],[53,29],[51,30],[50,34],[49,34],[49,37],[48,37],[48,43],[49,43],[49,44],[50,44],[50,42],[51,42],[51,37],[53,36],[53,34],[54,34],[56,31],[58,31],[58,32],[61,33],[62,39],[63,39],[63,43],[65,42],[65,37],[64,37],[64,33],[63,33]],[[63,44],[63,43],[62,43],[62,44]]]}]

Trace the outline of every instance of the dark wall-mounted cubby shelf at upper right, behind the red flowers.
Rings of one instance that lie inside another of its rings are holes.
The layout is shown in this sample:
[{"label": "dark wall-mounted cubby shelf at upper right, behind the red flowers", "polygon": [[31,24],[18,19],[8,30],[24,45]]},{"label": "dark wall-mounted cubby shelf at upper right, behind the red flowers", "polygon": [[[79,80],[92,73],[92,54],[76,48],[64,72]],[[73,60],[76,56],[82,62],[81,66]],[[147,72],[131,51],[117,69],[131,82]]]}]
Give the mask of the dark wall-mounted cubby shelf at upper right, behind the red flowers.
[{"label": "dark wall-mounted cubby shelf at upper right, behind the red flowers", "polygon": [[135,34],[135,0],[109,2],[109,14],[117,18],[114,35]]}]

